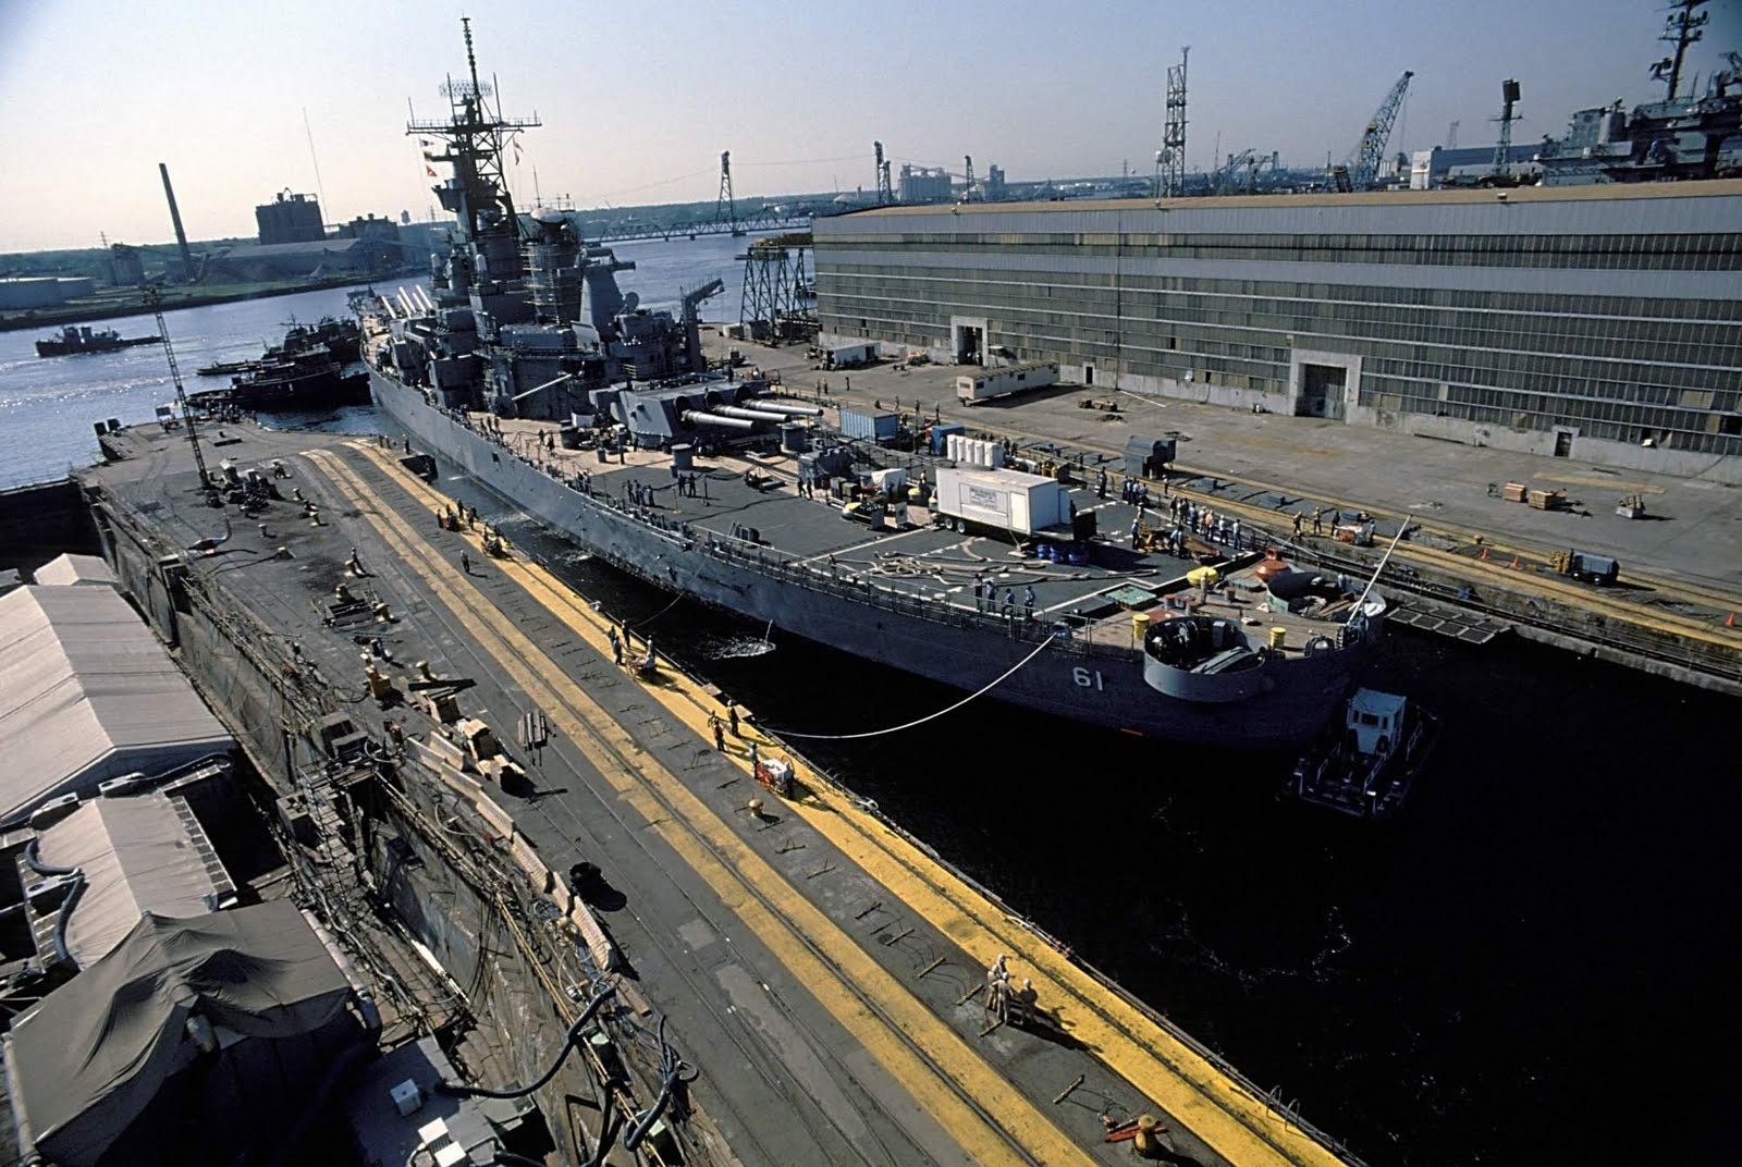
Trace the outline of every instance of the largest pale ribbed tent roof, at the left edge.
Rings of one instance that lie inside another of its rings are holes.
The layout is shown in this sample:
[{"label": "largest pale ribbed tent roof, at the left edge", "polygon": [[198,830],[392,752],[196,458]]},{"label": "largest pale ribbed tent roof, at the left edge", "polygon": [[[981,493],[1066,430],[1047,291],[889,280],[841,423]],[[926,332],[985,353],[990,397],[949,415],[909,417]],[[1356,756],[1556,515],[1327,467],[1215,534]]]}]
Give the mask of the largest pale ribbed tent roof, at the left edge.
[{"label": "largest pale ribbed tent roof, at the left edge", "polygon": [[233,747],[113,589],[0,596],[0,817],[131,770],[162,772]]}]

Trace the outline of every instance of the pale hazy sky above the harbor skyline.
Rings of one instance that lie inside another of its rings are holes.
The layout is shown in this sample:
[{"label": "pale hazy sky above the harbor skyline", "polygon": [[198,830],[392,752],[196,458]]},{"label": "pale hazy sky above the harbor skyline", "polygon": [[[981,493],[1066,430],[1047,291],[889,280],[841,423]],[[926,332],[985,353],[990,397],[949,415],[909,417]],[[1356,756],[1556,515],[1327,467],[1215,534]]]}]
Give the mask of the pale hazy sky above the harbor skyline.
[{"label": "pale hazy sky above the harbor skyline", "polygon": [[[479,73],[503,113],[542,118],[516,200],[580,207],[874,183],[902,162],[1010,179],[1151,174],[1164,78],[1192,47],[1190,169],[1252,148],[1345,159],[1404,70],[1390,153],[1514,141],[1568,115],[1662,96],[1648,66],[1664,0],[662,0],[472,5]],[[1688,70],[1742,47],[1742,0],[1712,0]],[[254,233],[254,204],[321,197],[329,223],[430,212],[408,111],[446,113],[460,16],[425,0],[0,0],[0,253]],[[1702,82],[1704,84],[1704,82]],[[408,106],[409,101],[409,106]],[[310,148],[312,141],[312,148]]]}]

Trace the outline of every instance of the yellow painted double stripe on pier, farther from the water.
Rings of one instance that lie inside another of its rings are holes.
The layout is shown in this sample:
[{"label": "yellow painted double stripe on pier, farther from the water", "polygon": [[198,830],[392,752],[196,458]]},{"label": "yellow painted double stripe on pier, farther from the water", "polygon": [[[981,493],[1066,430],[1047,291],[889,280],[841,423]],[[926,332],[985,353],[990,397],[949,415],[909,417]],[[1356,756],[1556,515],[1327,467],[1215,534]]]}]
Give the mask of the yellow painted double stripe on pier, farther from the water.
[{"label": "yellow painted double stripe on pier, farther from the water", "polygon": [[[955,1029],[871,960],[840,925],[563,676],[437,549],[422,536],[408,538],[401,531],[409,533],[411,528],[397,516],[376,510],[368,488],[338,456],[327,451],[310,451],[308,456],[322,465],[362,517],[399,552],[404,568],[423,578],[477,644],[496,646],[491,655],[545,709],[552,726],[587,756],[624,801],[714,888],[721,902],[974,1162],[1092,1162]],[[526,571],[516,563],[493,563],[510,575]]]}]

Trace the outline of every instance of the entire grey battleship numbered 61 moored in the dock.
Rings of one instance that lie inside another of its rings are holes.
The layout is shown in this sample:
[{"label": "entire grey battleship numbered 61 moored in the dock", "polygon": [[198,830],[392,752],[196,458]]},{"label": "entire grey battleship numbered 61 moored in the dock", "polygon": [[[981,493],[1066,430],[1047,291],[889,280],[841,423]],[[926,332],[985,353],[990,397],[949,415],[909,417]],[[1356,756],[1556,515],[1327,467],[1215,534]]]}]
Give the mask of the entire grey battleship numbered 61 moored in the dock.
[{"label": "entire grey battleship numbered 61 moored in the dock", "polygon": [[632,263],[561,212],[516,211],[502,152],[531,124],[490,103],[469,26],[465,45],[448,117],[408,125],[451,167],[432,294],[354,298],[408,451],[629,575],[969,695],[1252,749],[1303,745],[1340,707],[1383,631],[1371,585],[1164,502],[1160,441],[1108,476],[920,418],[831,428],[709,369],[699,308],[718,286],[648,310],[618,289]]}]

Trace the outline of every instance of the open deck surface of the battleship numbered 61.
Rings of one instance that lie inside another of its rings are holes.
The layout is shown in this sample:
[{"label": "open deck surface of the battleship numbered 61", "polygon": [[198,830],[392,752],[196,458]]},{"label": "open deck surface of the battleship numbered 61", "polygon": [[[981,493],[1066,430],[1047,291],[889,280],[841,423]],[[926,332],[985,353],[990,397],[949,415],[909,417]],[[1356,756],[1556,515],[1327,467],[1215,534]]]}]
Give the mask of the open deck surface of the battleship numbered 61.
[{"label": "open deck surface of the battleship numbered 61", "polygon": [[[472,415],[472,425],[483,427],[486,416]],[[874,526],[845,519],[841,500],[798,493],[798,462],[789,453],[697,456],[692,472],[699,482],[692,498],[678,491],[667,453],[629,449],[610,455],[611,462],[603,463],[596,449],[547,448],[545,435],[556,434],[550,422],[491,418],[490,425],[500,427],[503,446],[535,463],[552,467],[564,477],[591,474],[594,493],[618,502],[634,495],[645,500],[638,505],[658,519],[685,523],[723,540],[744,538],[742,528],[753,528],[758,545],[770,556],[902,599],[1063,624],[1071,636],[1111,648],[1138,646],[1136,613],[1150,620],[1185,611],[1226,617],[1246,625],[1254,646],[1270,643],[1272,629],[1282,629],[1286,655],[1301,653],[1313,636],[1334,632],[1326,620],[1263,606],[1263,585],[1252,575],[1263,556],[1261,542],[1258,550],[1246,543],[1244,552],[1235,556],[1228,547],[1197,540],[1204,557],[1218,564],[1219,580],[1209,590],[1186,580],[1198,557],[1132,550],[1138,507],[1120,502],[1111,491],[1108,498],[1097,498],[1092,488],[1071,488],[1078,512],[1094,512],[1099,535],[1090,563],[1070,566],[1033,554],[1035,543],[1059,540],[1038,536],[1024,550],[1016,536],[958,535],[934,524],[923,507],[909,507],[908,523],[899,528],[888,517]],[[892,451],[878,451],[878,458],[885,465],[908,467],[909,477],[934,463],[922,455]],[[746,472],[772,482],[753,488]],[[1151,493],[1155,500],[1160,500],[1158,493]],[[1165,500],[1160,502],[1160,510],[1153,505],[1143,510],[1144,526],[1169,526]],[[976,599],[976,580],[993,584],[989,606]],[[1026,604],[1028,589],[1035,592],[1033,613]]]}]

